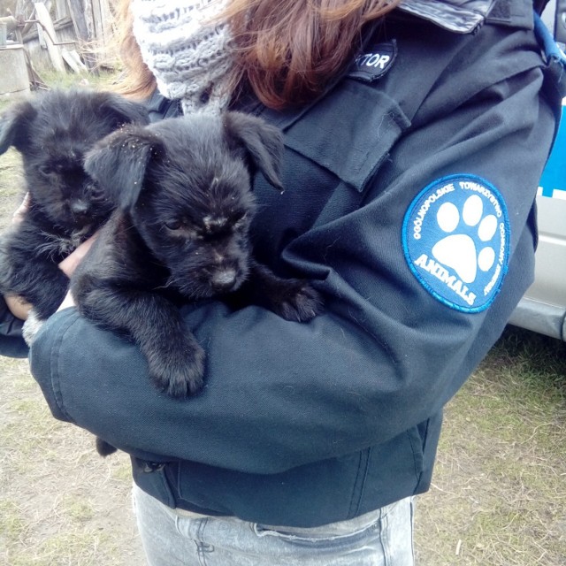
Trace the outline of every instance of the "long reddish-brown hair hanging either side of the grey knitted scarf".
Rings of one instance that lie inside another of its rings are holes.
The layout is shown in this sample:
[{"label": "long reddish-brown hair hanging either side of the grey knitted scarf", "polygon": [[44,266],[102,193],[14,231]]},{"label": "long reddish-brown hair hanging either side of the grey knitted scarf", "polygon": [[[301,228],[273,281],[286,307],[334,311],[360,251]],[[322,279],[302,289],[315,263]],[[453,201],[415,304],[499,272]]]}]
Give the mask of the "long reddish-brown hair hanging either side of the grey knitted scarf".
[{"label": "long reddish-brown hair hanging either side of the grey knitted scarf", "polygon": [[[122,92],[148,95],[155,79],[132,33],[130,0],[120,0]],[[401,0],[231,0],[223,19],[233,34],[233,88],[247,81],[268,107],[301,104],[319,95],[348,65],[367,22]]]}]

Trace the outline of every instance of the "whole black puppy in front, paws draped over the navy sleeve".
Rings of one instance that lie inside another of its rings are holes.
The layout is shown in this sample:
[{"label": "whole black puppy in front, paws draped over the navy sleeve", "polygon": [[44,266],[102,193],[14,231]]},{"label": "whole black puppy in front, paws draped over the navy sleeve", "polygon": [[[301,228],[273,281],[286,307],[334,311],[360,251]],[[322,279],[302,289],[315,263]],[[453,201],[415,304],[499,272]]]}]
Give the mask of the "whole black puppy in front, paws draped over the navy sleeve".
[{"label": "whole black puppy in front, paws draped over the navy sleeve", "polygon": [[281,188],[282,149],[277,128],[227,112],[128,126],[86,158],[119,210],[75,272],[73,296],[85,317],[140,346],[168,394],[203,385],[203,348],[180,302],[249,290],[251,301],[289,319],[319,310],[305,281],[280,279],[250,256],[251,176],[259,170]]}]

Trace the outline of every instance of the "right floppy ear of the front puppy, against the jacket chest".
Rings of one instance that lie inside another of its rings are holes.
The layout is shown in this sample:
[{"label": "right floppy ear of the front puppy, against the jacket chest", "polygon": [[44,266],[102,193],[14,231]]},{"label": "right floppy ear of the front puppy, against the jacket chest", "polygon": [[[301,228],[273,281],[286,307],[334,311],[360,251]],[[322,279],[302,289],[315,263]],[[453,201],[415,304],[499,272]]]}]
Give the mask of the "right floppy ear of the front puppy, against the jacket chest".
[{"label": "right floppy ear of the front puppy, against the jacket chest", "polygon": [[242,112],[226,112],[224,126],[230,137],[246,149],[251,163],[264,173],[265,179],[282,191],[279,166],[284,146],[279,128]]}]

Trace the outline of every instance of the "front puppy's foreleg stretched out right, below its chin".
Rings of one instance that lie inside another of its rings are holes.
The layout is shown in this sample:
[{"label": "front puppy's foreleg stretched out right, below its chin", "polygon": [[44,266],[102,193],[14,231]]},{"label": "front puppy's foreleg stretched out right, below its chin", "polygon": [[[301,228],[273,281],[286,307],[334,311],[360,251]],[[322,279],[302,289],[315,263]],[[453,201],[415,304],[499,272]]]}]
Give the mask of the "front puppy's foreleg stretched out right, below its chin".
[{"label": "front puppy's foreleg stretched out right, below its chin", "polygon": [[320,294],[304,279],[283,279],[254,259],[249,279],[236,292],[239,301],[258,304],[286,320],[307,322],[322,310]]}]

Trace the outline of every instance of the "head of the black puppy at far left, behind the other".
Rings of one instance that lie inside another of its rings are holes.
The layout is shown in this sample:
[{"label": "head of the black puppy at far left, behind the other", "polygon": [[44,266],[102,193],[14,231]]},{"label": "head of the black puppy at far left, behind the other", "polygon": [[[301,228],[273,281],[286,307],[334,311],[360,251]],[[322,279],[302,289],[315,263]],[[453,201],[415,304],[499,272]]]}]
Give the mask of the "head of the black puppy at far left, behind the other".
[{"label": "head of the black puppy at far left, behind the other", "polygon": [[31,206],[50,223],[77,231],[98,226],[111,203],[83,169],[88,149],[124,124],[147,124],[141,104],[111,93],[52,90],[15,104],[0,118],[0,153],[23,157]]}]

